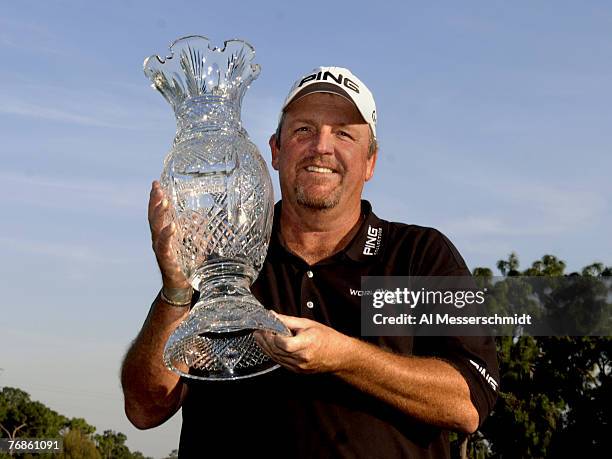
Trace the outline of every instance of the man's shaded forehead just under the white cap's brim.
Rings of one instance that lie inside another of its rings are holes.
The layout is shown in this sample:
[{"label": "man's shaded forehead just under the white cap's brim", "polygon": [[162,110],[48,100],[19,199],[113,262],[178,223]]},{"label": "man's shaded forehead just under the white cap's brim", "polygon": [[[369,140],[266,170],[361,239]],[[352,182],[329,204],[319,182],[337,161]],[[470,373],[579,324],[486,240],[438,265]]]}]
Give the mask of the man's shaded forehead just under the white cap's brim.
[{"label": "man's shaded forehead just under the white cap's brim", "polygon": [[355,104],[336,94],[316,92],[308,94],[285,109],[289,119],[326,119],[342,124],[367,125]]}]

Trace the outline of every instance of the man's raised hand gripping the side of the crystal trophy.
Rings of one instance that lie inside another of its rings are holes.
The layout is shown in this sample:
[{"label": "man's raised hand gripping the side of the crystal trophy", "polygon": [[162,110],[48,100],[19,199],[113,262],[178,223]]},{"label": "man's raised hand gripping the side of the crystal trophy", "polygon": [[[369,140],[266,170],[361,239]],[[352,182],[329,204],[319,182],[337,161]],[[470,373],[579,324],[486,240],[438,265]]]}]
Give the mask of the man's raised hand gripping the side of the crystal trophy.
[{"label": "man's raised hand gripping the side of the crystal trophy", "polygon": [[151,187],[148,214],[153,252],[155,252],[155,258],[157,258],[162,281],[164,286],[168,288],[189,288],[190,284],[187,282],[172,248],[172,237],[176,232],[176,224],[171,223],[164,226],[164,222],[169,220],[166,218],[166,214],[171,211],[170,202],[165,197],[159,182],[155,180]]}]

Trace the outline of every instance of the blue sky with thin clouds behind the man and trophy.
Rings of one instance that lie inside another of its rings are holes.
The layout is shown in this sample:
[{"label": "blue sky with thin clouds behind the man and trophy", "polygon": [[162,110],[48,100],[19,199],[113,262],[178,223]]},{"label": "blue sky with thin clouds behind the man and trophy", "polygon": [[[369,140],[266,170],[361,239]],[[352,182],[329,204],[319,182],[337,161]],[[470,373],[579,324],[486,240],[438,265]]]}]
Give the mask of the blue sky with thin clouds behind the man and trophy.
[{"label": "blue sky with thin clouds behind the man and trophy", "polygon": [[[3,2],[0,385],[162,456],[180,420],[130,427],[118,371],[159,288],[146,221],[174,135],[142,61],[175,38],[252,43],[243,124],[266,160],[293,81],[349,67],[378,105],[366,197],[468,265],[612,264],[609,2]],[[273,174],[273,180],[276,176]],[[278,190],[278,187],[276,188]],[[203,414],[205,416],[205,414]]]}]

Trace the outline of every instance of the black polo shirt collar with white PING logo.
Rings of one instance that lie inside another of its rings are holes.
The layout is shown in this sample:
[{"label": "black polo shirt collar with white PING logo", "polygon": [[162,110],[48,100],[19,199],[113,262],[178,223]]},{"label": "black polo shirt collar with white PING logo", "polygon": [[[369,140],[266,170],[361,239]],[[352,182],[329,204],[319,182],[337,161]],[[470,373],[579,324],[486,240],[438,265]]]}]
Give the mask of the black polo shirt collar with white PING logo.
[{"label": "black polo shirt collar with white PING logo", "polygon": [[[277,256],[294,257],[295,255],[287,250],[280,238],[281,207],[282,200],[278,201],[274,206],[274,223],[268,250]],[[349,258],[357,262],[370,262],[382,256],[387,236],[386,222],[374,214],[372,205],[365,199],[361,200],[361,214],[364,218],[353,239],[343,250],[326,260],[321,260],[320,263],[337,260],[338,258]]]}]

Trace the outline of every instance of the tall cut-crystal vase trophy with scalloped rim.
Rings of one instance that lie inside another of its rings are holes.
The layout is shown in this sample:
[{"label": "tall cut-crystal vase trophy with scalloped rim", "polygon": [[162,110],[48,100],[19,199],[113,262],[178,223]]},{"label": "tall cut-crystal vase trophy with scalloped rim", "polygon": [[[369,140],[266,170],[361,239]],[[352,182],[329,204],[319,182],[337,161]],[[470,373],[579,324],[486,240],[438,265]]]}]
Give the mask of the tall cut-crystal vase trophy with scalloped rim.
[{"label": "tall cut-crystal vase trophy with scalloped rim", "polygon": [[166,366],[205,380],[247,378],[278,365],[253,331],[290,335],[251,294],[272,231],[274,197],[266,164],[240,120],[242,98],[260,67],[242,40],[214,47],[189,36],[170,55],[145,59],[145,75],[177,121],[160,183],[172,211],[166,223],[185,277],[200,293],[164,349]]}]

